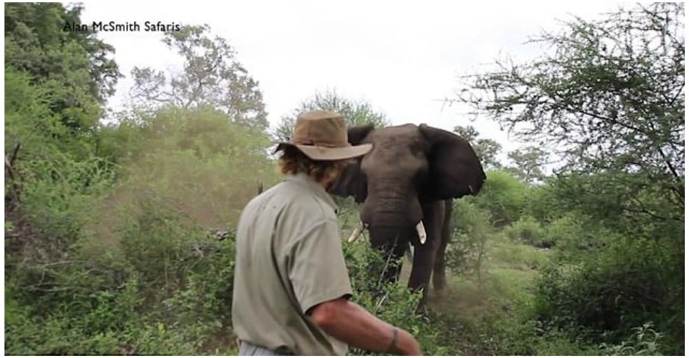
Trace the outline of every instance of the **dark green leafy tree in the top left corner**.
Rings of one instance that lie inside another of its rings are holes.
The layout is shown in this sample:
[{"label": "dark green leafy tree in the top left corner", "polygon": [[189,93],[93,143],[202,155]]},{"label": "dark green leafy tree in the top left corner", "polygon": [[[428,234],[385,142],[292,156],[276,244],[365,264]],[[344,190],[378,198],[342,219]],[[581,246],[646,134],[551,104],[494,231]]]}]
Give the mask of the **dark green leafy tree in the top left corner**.
[{"label": "dark green leafy tree in the top left corner", "polygon": [[6,68],[43,87],[51,112],[72,134],[95,129],[121,77],[109,58],[114,48],[95,32],[63,31],[65,23],[81,23],[82,10],[61,3],[5,4]]}]

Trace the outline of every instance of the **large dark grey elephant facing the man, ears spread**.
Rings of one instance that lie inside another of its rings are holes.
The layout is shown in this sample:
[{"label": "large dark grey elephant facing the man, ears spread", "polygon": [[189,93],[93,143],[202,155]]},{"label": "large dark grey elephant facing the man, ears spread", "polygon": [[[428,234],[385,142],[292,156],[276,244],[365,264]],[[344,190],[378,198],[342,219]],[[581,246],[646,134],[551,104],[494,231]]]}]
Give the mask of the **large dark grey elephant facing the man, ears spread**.
[{"label": "large dark grey elephant facing the man, ears spread", "polygon": [[[372,143],[373,149],[353,160],[329,191],[360,203],[376,249],[400,258],[414,246],[409,288],[423,290],[425,298],[433,274],[433,288],[443,291],[452,199],[478,193],[486,178],[473,148],[456,134],[426,125],[365,125],[348,135],[352,145]],[[415,230],[420,220],[425,244]],[[389,267],[385,278],[397,280],[401,268]]]}]

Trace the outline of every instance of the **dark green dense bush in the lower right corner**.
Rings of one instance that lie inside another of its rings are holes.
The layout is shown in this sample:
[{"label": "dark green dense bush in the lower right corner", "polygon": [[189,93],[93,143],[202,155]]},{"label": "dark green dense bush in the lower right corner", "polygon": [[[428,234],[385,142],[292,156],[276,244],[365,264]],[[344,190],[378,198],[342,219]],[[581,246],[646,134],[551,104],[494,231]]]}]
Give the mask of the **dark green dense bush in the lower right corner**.
[{"label": "dark green dense bush in the lower right corner", "polygon": [[660,322],[660,332],[672,333],[664,353],[678,354],[683,350],[683,268],[671,264],[677,250],[653,240],[610,241],[582,262],[544,268],[537,282],[537,317],[608,344],[624,339],[633,327]]}]

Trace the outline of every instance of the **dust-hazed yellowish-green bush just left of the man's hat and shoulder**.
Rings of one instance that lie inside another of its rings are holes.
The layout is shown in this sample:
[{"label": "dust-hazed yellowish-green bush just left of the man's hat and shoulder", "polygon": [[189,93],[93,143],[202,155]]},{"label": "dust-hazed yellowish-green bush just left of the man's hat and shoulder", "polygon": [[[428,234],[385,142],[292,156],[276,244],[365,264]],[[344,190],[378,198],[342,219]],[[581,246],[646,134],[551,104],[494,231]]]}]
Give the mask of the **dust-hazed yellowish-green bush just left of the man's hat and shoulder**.
[{"label": "dust-hazed yellowish-green bush just left of the man's hat and shoulder", "polygon": [[[103,136],[103,151],[121,163],[114,204],[150,192],[201,227],[226,227],[236,224],[259,182],[267,188],[280,180],[266,156],[267,135],[214,109],[168,107],[141,120],[136,131],[128,120]],[[118,143],[122,137],[128,147]]]}]

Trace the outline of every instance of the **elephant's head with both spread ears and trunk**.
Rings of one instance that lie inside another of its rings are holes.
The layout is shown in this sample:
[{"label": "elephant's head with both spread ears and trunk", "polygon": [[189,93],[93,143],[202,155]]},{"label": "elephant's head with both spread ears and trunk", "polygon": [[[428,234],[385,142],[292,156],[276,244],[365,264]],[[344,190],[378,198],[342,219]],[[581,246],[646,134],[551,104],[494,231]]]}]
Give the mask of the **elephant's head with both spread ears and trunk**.
[{"label": "elephant's head with both spread ears and trunk", "polygon": [[[373,246],[392,246],[423,218],[425,202],[477,193],[486,178],[471,145],[427,125],[349,129],[353,145],[373,149],[351,162],[329,191],[353,196]],[[406,245],[406,243],[405,243]]]}]

